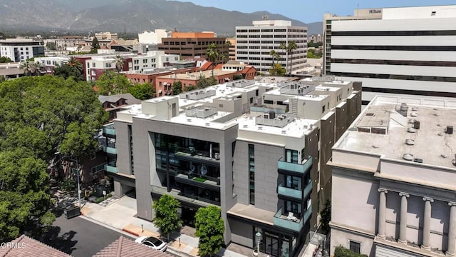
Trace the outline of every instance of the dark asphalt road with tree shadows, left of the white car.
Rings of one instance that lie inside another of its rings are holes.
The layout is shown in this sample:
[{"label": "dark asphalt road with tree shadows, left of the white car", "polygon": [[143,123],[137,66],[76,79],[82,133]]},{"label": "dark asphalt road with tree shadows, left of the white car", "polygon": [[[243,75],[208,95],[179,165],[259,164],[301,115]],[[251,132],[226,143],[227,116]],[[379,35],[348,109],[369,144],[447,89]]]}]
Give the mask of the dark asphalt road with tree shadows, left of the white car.
[{"label": "dark asphalt road with tree shadows, left of the white car", "polygon": [[125,236],[125,234],[81,217],[67,220],[65,216],[61,215],[56,217],[53,228],[40,241],[71,256],[88,257],[98,253],[120,236]]}]

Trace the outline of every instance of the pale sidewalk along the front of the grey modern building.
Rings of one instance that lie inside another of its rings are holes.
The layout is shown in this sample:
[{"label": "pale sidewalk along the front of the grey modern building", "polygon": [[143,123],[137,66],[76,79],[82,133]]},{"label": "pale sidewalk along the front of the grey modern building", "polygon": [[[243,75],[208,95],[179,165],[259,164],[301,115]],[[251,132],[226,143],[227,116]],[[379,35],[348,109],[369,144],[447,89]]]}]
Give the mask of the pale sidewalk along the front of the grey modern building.
[{"label": "pale sidewalk along the front of the grey modern building", "polygon": [[[136,199],[129,196],[102,202],[100,204],[87,202],[81,208],[81,214],[89,220],[103,223],[133,236],[160,236],[158,228],[150,221],[136,217]],[[178,256],[198,256],[198,238],[185,233],[173,233],[167,243],[170,253]],[[222,248],[217,256],[244,257],[240,253]]]}]

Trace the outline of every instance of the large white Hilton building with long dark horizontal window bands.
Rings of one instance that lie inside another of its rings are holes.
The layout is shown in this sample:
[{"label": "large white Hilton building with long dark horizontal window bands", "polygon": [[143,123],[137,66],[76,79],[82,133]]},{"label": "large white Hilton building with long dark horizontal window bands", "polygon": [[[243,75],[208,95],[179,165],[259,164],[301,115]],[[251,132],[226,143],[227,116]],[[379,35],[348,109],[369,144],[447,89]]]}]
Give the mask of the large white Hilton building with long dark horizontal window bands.
[{"label": "large white Hilton building with long dark horizontal window bands", "polygon": [[377,94],[456,96],[456,6],[360,9],[323,17],[325,74]]}]

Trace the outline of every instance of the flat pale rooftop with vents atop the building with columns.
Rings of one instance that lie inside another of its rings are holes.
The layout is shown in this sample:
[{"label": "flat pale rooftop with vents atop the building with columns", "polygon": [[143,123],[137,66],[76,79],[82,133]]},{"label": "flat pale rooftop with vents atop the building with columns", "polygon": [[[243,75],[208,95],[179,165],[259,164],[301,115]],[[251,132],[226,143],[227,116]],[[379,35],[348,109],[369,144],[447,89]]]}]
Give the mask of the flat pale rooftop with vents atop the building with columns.
[{"label": "flat pale rooftop with vents atop the building with columns", "polygon": [[[403,101],[407,103],[402,104]],[[456,126],[456,101],[377,97],[334,148],[456,168],[453,126]]]}]

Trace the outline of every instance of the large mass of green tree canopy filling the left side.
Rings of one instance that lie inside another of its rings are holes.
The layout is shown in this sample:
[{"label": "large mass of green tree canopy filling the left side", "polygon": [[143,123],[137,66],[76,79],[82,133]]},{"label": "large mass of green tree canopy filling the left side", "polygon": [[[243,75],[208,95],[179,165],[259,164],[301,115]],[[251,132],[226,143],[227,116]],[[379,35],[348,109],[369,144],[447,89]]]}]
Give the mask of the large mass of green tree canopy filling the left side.
[{"label": "large mass of green tree canopy filling the left side", "polygon": [[0,83],[0,241],[54,221],[46,168],[56,151],[80,158],[108,115],[86,81],[56,76]]}]

